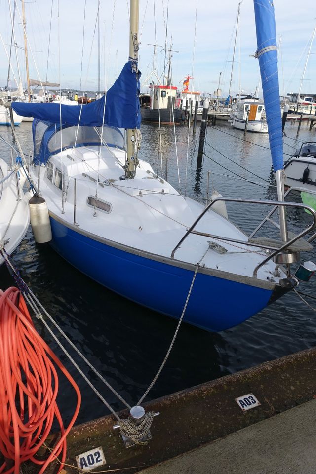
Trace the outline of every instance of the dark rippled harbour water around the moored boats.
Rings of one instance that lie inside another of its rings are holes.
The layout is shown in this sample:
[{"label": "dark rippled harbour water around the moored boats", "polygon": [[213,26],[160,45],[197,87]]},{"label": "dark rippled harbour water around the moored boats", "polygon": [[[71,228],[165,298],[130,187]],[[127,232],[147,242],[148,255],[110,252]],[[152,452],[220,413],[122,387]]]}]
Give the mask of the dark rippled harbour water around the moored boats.
[{"label": "dark rippled harbour water around the moored boats", "polygon": [[[31,128],[32,124],[24,122],[16,128],[25,152],[32,148]],[[298,141],[294,140],[297,125],[288,123],[285,131],[287,145],[284,146],[284,152],[288,155],[293,153],[301,141],[316,140],[315,131],[309,132],[306,124],[302,125]],[[225,122],[218,122],[216,128],[209,127],[207,130],[205,153],[208,158],[204,157],[200,169],[197,168],[199,129],[196,138],[190,133],[189,146],[186,126],[177,127],[175,133],[181,189],[182,192],[186,190],[188,196],[200,201],[205,199],[207,171],[211,171],[211,189],[213,184],[225,197],[276,199],[270,151],[265,148],[269,147],[268,135],[248,133],[246,142],[243,140],[243,132],[232,129]],[[148,160],[154,170],[158,169],[161,174],[158,127],[142,124],[142,134],[140,157]],[[14,144],[9,128],[1,127],[0,135]],[[167,162],[167,179],[179,188],[172,127],[161,129],[161,143],[163,175],[165,177]],[[222,155],[214,149],[219,150]],[[9,158],[8,150],[8,147],[0,142],[1,158]],[[266,181],[250,175],[226,157]],[[234,177],[231,172],[212,160],[240,176],[260,183],[261,186]],[[299,197],[296,200],[300,202]],[[230,219],[250,232],[267,213],[267,209],[260,207],[256,210],[250,206],[231,204],[228,206],[228,213]],[[304,227],[310,222],[309,216],[301,211],[291,211],[289,218],[293,229]],[[302,258],[316,262],[316,250],[312,254],[302,254]],[[49,245],[36,244],[31,229],[15,251],[14,260],[26,283],[79,350],[129,404],[136,404],[166,354],[177,321],[126,301],[81,275]],[[5,289],[12,284],[14,283],[11,277],[2,266],[0,288]],[[138,284],[133,281],[132,276],[131,284]],[[301,284],[300,289],[316,296],[316,277],[309,283]],[[229,297],[230,295],[227,295],[227,298]],[[308,301],[316,307],[316,301]],[[107,408],[72,367],[56,342],[51,340],[38,321],[36,324],[40,334],[79,384],[82,405],[77,423],[107,414]],[[208,333],[183,324],[167,364],[147,399],[167,395],[276,357],[292,354],[312,347],[315,343],[316,315],[293,292],[243,324],[221,333]],[[67,343],[65,345],[67,346]],[[70,352],[102,395],[115,409],[121,409],[122,405],[114,395],[83,362],[80,362],[81,359],[76,353],[72,350]],[[61,381],[60,405],[63,407],[65,419],[72,413],[73,396],[67,383]]]}]

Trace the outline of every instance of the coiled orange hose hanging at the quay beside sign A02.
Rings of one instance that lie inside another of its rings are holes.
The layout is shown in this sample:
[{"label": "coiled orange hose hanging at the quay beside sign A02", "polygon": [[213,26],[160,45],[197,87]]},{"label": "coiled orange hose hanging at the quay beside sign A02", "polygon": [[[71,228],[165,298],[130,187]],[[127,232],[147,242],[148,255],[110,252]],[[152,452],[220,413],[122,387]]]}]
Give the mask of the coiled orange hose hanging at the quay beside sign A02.
[{"label": "coiled orange hose hanging at the quay beside sign A02", "polygon": [[[56,404],[58,375],[63,372],[77,394],[74,416],[67,428]],[[5,462],[1,474],[19,474],[20,464],[31,460],[39,474],[57,456],[66,459],[66,436],[75,423],[81,403],[79,388],[60,360],[35,329],[26,303],[17,288],[0,290],[0,452]],[[54,419],[60,439],[47,459],[35,455],[45,443]]]}]

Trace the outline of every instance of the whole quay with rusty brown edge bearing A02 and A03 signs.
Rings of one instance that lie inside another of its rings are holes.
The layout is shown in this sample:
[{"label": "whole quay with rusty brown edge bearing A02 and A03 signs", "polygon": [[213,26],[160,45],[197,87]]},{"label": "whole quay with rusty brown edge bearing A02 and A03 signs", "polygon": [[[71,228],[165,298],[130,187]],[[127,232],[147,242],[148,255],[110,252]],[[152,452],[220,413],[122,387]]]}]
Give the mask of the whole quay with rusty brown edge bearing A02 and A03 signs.
[{"label": "whole quay with rusty brown edge bearing A02 and A03 signs", "polygon": [[[144,404],[160,412],[146,446],[125,448],[110,415],[76,426],[63,473],[77,469],[81,453],[102,447],[106,464],[93,472],[315,474],[315,361],[316,348],[308,349]],[[46,473],[57,468],[52,463]]]}]

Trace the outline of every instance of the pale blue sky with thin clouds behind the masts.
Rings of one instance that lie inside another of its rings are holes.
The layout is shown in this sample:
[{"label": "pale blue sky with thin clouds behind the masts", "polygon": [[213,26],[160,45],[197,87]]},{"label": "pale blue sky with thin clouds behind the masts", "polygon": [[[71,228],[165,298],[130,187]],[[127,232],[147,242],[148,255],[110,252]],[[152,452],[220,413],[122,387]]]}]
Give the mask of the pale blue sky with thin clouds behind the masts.
[{"label": "pale blue sky with thin clouds behind the masts", "polygon": [[[9,1],[0,0],[0,86],[5,86],[11,41]],[[190,88],[213,95],[220,88],[228,95],[239,0],[140,0],[139,68],[142,91],[155,76],[163,75],[165,45],[172,52],[173,85],[182,88],[185,76],[193,77]],[[298,92],[306,59],[302,93],[316,94],[316,1],[275,0],[276,39],[280,41],[278,67],[280,94]],[[17,1],[15,42],[23,85],[26,83],[22,3]],[[30,77],[60,82],[62,88],[98,90],[109,88],[128,58],[129,0],[33,0],[25,2]],[[99,38],[99,40],[98,40]],[[157,60],[153,66],[153,44]],[[239,51],[240,44],[240,51]],[[259,83],[253,0],[240,4],[239,34],[233,67],[231,93],[240,89],[254,93]],[[100,57],[100,60],[98,58]],[[240,68],[239,68],[240,58]],[[12,68],[18,78],[15,52]],[[221,74],[220,74],[221,73]],[[15,87],[10,73],[11,87]],[[262,92],[259,89],[259,96]]]}]

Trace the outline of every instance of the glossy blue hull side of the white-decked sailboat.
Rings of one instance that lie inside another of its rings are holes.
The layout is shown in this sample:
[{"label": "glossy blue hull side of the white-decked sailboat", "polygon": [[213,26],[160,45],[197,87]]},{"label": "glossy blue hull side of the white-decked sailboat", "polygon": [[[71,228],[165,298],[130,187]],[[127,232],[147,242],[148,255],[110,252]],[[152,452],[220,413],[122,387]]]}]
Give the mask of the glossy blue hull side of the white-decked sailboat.
[{"label": "glossy blue hull side of the white-decked sailboat", "polygon": [[[80,234],[50,218],[53,248],[80,272],[142,306],[179,319],[194,271]],[[208,331],[236,326],[267,306],[272,290],[197,273],[184,321]]]}]

